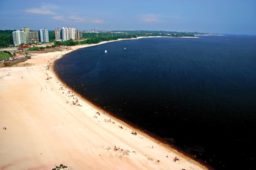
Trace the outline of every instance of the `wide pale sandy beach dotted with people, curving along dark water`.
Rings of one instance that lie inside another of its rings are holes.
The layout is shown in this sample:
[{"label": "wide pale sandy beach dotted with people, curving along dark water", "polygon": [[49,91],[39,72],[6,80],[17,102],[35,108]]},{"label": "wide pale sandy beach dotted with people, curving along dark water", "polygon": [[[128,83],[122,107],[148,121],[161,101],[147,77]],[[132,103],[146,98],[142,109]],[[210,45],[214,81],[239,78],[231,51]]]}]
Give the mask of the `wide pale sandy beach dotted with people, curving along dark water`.
[{"label": "wide pale sandy beach dotted with people, curving along dark water", "polygon": [[34,53],[0,68],[0,125],[6,127],[0,131],[0,169],[207,169],[93,106],[58,79],[53,62],[88,46]]}]

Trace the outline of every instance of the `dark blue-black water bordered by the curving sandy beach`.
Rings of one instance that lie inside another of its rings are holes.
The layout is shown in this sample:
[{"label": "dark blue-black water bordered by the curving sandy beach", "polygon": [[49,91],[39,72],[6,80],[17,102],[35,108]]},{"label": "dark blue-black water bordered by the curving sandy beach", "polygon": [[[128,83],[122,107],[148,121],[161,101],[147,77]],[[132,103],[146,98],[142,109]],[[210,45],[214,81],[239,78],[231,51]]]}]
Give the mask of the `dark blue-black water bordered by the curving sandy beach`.
[{"label": "dark blue-black water bordered by the curving sandy beach", "polygon": [[256,36],[123,40],[56,65],[84,97],[214,168],[255,169]]}]

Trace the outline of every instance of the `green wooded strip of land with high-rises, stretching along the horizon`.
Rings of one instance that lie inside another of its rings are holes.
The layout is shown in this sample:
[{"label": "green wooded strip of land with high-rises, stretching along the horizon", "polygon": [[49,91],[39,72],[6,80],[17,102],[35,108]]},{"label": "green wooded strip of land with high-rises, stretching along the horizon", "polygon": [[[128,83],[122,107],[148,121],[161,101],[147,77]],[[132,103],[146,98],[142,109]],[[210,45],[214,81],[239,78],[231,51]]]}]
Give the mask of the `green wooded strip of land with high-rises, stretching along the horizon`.
[{"label": "green wooded strip of land with high-rises, stretching along the horizon", "polygon": [[[70,28],[73,29],[73,28]],[[118,39],[130,39],[130,38],[137,38],[137,37],[196,37],[202,35],[222,35],[216,33],[200,33],[200,32],[186,32],[186,31],[148,31],[148,30],[79,30],[77,31],[80,35],[74,36],[74,38],[69,38],[65,40],[61,37],[60,30],[57,29],[58,37],[56,39],[56,30],[35,30],[31,31],[29,28],[23,28],[22,30],[29,30],[29,34],[33,34],[33,41],[25,41],[21,45],[40,45],[42,47],[49,45],[51,43],[51,47],[57,46],[73,46],[73,45],[83,45],[83,44],[97,44],[103,41],[112,41]],[[74,29],[75,30],[75,29]],[[17,47],[17,43],[14,42],[17,33],[25,31],[16,31],[16,30],[0,30],[0,48],[10,48],[10,47]],[[47,32],[45,39],[47,41],[41,41],[40,32],[45,31]],[[16,34],[15,34],[16,33]],[[38,34],[38,36],[36,35]],[[25,36],[25,33],[24,33]],[[63,35],[62,35],[63,36]],[[35,38],[36,37],[36,38]],[[29,40],[28,36],[28,40]],[[36,41],[35,41],[36,40]],[[31,50],[31,49],[28,49]],[[35,49],[33,49],[35,50]]]}]

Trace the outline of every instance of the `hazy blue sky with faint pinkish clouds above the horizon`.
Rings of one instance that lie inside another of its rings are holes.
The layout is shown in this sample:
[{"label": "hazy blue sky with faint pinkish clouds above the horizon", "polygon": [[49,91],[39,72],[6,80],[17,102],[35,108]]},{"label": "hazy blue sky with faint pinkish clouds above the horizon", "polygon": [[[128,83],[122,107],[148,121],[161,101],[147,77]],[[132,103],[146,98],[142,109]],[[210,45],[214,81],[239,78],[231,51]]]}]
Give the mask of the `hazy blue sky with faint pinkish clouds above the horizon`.
[{"label": "hazy blue sky with faint pinkish clouds above the horizon", "polygon": [[73,27],[256,34],[256,0],[0,1],[0,30]]}]

